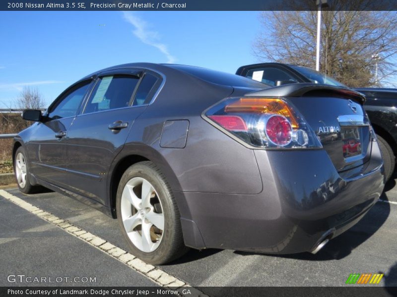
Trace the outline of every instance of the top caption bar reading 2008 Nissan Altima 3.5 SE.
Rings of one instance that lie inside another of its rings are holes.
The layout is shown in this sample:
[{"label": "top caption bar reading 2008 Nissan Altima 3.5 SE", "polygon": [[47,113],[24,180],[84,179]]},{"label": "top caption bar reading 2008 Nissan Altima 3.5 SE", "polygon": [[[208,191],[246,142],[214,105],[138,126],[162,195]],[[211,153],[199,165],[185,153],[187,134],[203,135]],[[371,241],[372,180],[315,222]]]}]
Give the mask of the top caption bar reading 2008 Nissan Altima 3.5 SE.
[{"label": "top caption bar reading 2008 Nissan Altima 3.5 SE", "polygon": [[[318,0],[317,0],[318,1]],[[324,10],[397,10],[396,0],[322,0]],[[2,0],[0,10],[317,10],[316,0]]]}]

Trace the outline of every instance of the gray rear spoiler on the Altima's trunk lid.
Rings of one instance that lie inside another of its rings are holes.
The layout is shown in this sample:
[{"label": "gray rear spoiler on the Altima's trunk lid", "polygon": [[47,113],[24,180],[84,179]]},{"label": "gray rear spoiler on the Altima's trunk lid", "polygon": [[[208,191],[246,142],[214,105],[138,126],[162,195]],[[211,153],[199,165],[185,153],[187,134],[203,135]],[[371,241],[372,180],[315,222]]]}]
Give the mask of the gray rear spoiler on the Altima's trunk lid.
[{"label": "gray rear spoiler on the Altima's trunk lid", "polygon": [[365,96],[359,92],[344,87],[334,87],[330,85],[320,85],[314,83],[288,84],[279,87],[272,87],[261,91],[246,94],[246,96],[271,96],[271,97],[340,97],[353,99],[363,105]]}]

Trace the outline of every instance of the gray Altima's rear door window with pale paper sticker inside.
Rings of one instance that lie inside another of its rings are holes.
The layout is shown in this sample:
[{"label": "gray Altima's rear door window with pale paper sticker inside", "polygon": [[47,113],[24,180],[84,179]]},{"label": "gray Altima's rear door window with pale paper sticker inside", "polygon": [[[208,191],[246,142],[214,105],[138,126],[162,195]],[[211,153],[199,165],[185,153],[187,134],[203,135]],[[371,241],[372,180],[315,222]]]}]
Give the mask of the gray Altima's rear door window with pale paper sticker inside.
[{"label": "gray Altima's rear door window with pale paper sticker inside", "polygon": [[84,113],[129,106],[138,81],[138,78],[129,75],[101,77],[95,85]]}]

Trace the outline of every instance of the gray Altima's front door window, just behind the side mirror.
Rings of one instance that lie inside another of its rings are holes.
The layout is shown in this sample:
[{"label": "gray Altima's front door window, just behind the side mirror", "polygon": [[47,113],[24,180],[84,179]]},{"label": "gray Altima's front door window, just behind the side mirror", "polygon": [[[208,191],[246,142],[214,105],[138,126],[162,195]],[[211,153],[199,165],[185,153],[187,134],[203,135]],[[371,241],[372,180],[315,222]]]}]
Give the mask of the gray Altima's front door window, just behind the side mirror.
[{"label": "gray Altima's front door window, just behind the side mirror", "polygon": [[51,119],[60,119],[72,117],[77,114],[81,101],[87,93],[91,81],[83,82],[81,85],[73,88],[70,92],[66,93],[63,99],[60,99],[54,107],[51,108],[48,116]]}]

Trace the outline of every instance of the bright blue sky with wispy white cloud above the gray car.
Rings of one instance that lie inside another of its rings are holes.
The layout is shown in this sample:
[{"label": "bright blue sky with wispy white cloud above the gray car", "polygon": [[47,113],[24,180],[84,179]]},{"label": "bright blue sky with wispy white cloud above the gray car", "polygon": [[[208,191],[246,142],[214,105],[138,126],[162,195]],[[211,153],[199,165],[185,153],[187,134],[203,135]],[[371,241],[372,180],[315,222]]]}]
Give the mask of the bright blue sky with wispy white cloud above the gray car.
[{"label": "bright blue sky with wispy white cloud above the gray car", "polygon": [[128,62],[175,62],[234,73],[257,62],[259,12],[0,12],[0,108],[23,86],[47,103],[81,77]]}]

